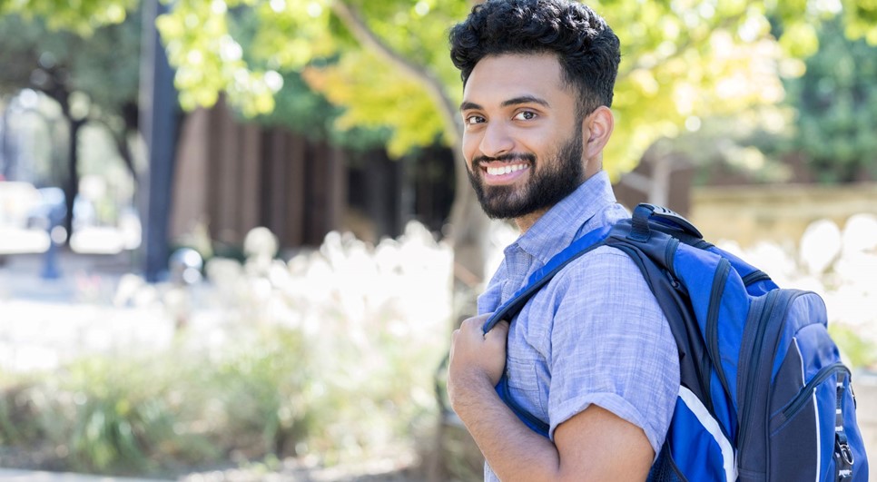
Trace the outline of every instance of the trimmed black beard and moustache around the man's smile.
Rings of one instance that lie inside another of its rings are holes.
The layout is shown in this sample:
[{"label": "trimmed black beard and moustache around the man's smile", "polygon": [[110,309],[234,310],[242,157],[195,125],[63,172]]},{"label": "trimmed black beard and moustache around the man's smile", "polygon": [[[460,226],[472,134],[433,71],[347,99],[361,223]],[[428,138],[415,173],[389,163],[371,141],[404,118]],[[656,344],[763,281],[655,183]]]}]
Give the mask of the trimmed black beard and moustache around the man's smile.
[{"label": "trimmed black beard and moustache around the man's smile", "polygon": [[[531,153],[512,153],[496,158],[476,157],[472,169],[467,169],[469,182],[478,195],[481,209],[491,219],[516,219],[557,204],[576,191],[585,181],[582,162],[582,134],[573,133],[557,150],[554,162],[541,162],[545,166],[537,171],[536,156]],[[530,163],[530,180],[524,186],[486,186],[481,162],[527,161]]]}]

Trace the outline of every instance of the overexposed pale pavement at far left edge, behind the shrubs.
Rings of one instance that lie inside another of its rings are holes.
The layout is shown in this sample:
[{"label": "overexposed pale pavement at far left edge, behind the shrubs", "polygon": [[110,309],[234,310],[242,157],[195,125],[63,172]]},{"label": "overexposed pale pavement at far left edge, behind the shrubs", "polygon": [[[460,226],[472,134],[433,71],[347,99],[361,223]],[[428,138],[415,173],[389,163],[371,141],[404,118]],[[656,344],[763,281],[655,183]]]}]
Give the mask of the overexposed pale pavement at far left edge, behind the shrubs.
[{"label": "overexposed pale pavement at far left edge, behind the shrubs", "polygon": [[173,323],[160,304],[113,304],[130,255],[61,253],[61,276],[45,280],[42,255],[0,265],[0,369],[54,369],[83,353],[162,347]]}]

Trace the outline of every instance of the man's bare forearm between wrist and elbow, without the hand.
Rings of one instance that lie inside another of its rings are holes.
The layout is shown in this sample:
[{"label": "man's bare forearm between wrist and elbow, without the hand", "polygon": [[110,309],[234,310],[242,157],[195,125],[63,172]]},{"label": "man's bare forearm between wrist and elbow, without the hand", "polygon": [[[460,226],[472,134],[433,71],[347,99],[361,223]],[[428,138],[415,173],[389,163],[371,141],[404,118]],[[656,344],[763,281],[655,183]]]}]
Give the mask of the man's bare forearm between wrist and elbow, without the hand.
[{"label": "man's bare forearm between wrist and elbow, without the hand", "polygon": [[547,438],[527,428],[493,387],[472,388],[454,409],[488,464],[504,481],[558,480],[560,459]]}]

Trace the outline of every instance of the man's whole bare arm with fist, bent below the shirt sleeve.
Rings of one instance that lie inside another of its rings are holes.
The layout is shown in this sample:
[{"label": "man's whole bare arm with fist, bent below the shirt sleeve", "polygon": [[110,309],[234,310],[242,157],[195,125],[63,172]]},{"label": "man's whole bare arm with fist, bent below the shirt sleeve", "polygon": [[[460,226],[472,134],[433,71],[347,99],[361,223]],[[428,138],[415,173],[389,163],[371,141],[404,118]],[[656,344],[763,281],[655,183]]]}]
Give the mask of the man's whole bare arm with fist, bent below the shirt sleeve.
[{"label": "man's whole bare arm with fist, bent below the shirt sleeve", "polygon": [[[508,323],[481,330],[488,315],[455,330],[448,398],[493,471],[505,481],[645,480],[655,457],[642,428],[591,405],[548,440],[521,422],[494,389],[506,365]],[[625,454],[618,463],[618,454]]]}]

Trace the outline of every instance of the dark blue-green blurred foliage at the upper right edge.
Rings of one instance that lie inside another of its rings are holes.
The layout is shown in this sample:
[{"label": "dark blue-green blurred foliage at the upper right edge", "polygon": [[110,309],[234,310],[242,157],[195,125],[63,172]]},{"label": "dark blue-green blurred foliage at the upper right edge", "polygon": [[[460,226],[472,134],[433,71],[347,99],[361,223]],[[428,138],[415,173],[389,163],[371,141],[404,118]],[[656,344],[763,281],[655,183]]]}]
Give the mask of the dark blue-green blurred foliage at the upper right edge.
[{"label": "dark blue-green blurred foliage at the upper right edge", "polygon": [[836,20],[819,41],[806,73],[787,83],[798,113],[793,149],[821,182],[877,179],[877,46],[847,39]]}]

